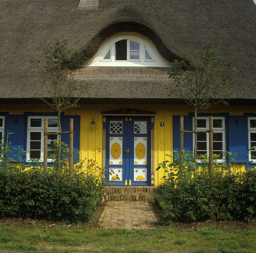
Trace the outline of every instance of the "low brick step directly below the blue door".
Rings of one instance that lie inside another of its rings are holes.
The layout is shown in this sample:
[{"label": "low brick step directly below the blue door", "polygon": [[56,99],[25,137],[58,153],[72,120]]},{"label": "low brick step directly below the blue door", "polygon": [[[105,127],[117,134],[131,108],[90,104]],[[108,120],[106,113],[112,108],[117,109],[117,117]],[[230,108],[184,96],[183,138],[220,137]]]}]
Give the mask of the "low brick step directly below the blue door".
[{"label": "low brick step directly below the blue door", "polygon": [[160,195],[161,189],[155,186],[107,186],[105,200],[154,200],[155,195]]}]

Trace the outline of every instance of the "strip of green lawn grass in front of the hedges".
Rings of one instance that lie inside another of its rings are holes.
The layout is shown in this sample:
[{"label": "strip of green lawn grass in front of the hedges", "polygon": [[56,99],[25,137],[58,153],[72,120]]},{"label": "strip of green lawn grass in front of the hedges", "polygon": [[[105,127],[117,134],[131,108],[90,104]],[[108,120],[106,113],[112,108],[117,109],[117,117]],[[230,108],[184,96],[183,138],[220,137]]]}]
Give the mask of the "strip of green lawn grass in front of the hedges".
[{"label": "strip of green lawn grass in front of the hedges", "polygon": [[256,229],[205,226],[149,230],[97,229],[86,225],[25,226],[0,222],[0,252],[256,252]]}]

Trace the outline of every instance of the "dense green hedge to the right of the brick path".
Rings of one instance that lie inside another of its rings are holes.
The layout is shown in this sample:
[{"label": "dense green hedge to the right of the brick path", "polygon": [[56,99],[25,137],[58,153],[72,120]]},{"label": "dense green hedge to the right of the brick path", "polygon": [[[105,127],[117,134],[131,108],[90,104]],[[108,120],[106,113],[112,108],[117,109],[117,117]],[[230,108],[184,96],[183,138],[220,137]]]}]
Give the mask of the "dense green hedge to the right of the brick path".
[{"label": "dense green hedge to the right of the brick path", "polygon": [[156,196],[156,201],[167,224],[256,219],[256,169],[235,174],[216,170],[211,184],[205,171],[196,178],[184,173],[167,180],[163,196]]}]

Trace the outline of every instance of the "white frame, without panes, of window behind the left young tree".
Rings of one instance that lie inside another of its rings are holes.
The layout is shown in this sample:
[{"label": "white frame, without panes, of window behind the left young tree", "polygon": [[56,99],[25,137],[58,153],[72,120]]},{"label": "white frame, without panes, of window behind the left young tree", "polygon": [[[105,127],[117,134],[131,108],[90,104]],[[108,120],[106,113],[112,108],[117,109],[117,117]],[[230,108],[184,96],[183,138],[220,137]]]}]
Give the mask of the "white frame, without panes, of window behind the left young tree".
[{"label": "white frame, without panes, of window behind the left young tree", "polygon": [[[41,132],[41,153],[39,161],[43,161],[43,155],[44,155],[44,119],[48,120],[58,120],[57,116],[28,116],[28,127],[27,127],[27,161],[31,161],[30,158],[30,132]],[[41,127],[31,127],[31,119],[41,119]],[[58,126],[57,127],[48,127],[48,132],[58,132]],[[52,159],[47,159],[48,162],[51,162]]]}]

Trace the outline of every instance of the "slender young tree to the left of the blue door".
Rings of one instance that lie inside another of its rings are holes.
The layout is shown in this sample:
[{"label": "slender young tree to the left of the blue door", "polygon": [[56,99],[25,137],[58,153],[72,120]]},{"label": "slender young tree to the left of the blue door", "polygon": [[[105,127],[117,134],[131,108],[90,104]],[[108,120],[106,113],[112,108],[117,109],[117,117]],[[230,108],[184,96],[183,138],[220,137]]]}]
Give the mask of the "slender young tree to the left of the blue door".
[{"label": "slender young tree to the left of the blue door", "polygon": [[[68,47],[68,40],[57,41],[52,46],[41,49],[38,66],[47,93],[41,99],[58,113],[59,133],[62,131],[61,113],[76,107],[79,94],[86,89],[85,83],[74,79],[76,72],[81,69],[81,64],[85,61],[83,52]],[[60,170],[61,134],[58,142],[58,169]]]}]

